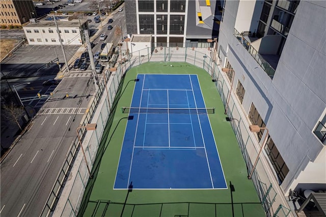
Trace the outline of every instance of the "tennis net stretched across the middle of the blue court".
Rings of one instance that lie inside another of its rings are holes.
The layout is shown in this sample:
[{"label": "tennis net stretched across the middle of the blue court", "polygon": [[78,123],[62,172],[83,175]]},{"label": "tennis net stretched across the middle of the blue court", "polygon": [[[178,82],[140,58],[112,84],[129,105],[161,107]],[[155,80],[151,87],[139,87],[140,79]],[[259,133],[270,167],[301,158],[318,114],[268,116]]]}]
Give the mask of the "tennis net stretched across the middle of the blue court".
[{"label": "tennis net stretched across the middle of the blue court", "polygon": [[215,108],[121,107],[121,111],[129,114],[214,114]]}]

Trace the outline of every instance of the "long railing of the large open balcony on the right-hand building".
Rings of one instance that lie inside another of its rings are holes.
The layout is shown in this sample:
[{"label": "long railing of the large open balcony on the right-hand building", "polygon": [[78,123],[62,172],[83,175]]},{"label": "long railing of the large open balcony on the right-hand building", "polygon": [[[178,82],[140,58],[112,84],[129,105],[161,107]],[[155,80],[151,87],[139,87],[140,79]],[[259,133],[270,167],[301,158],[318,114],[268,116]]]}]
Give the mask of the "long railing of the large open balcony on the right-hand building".
[{"label": "long railing of the large open balcony on the right-hand building", "polygon": [[256,60],[260,67],[266,72],[266,74],[273,79],[275,74],[275,69],[267,63],[267,61],[260,55],[260,53],[251,46],[250,42],[247,41],[236,29],[234,29],[233,35],[235,38],[241,42],[242,46],[248,50],[250,55]]}]

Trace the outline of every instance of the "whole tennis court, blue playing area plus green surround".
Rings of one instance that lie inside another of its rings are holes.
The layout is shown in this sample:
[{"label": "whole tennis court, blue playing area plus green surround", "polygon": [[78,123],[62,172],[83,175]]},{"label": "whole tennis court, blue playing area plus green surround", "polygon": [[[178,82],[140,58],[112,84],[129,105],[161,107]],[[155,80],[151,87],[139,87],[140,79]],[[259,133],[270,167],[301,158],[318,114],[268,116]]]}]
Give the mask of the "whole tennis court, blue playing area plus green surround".
[{"label": "whole tennis court, blue playing area plus green surround", "polygon": [[265,216],[203,69],[184,62],[133,67],[112,113],[78,216]]}]

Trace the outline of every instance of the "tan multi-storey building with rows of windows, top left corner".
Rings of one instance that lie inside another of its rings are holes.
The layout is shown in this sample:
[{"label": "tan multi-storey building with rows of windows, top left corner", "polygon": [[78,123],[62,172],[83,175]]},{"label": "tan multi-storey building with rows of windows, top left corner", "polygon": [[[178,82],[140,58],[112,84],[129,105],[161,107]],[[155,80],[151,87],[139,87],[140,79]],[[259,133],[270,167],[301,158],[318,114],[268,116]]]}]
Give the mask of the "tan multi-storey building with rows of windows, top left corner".
[{"label": "tan multi-storey building with rows of windows, top left corner", "polygon": [[36,10],[33,1],[0,1],[0,24],[2,26],[20,26],[36,18]]}]

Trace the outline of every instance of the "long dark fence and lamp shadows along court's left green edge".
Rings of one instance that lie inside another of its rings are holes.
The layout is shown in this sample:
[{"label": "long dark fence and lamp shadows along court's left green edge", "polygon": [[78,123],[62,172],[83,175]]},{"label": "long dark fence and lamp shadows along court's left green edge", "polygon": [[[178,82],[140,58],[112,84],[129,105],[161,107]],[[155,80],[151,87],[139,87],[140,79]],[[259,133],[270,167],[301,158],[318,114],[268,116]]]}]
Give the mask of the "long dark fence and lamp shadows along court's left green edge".
[{"label": "long dark fence and lamp shadows along court's left green edge", "polygon": [[[82,204],[80,204],[80,209],[79,209],[79,212],[78,212],[77,216],[83,216],[83,213],[86,210],[86,207],[87,207],[87,204],[89,203],[89,198],[91,196],[92,189],[93,189],[93,186],[94,186],[94,183],[96,181],[96,177],[97,177],[97,174],[98,174],[98,171],[99,171],[99,166],[101,164],[103,154],[105,153],[105,151],[106,151],[106,149],[108,147],[108,144],[110,144],[110,141],[111,141],[113,135],[115,134],[115,131],[118,128],[121,121],[122,120],[128,120],[128,117],[121,118],[118,121],[117,125],[115,126],[115,128],[114,128],[114,130],[113,130],[113,132],[112,132],[112,134],[110,136],[110,131],[111,131],[111,128],[113,127],[113,120],[114,120],[114,117],[115,117],[115,113],[117,112],[118,102],[119,102],[120,98],[122,97],[123,93],[125,92],[126,88],[130,84],[130,82],[138,82],[139,81],[139,79],[128,80],[128,83],[126,84],[125,88],[123,88],[124,78],[125,78],[125,76],[123,76],[122,79],[121,79],[121,82],[120,82],[120,85],[118,87],[118,91],[117,91],[117,94],[116,94],[116,98],[115,98],[115,100],[113,102],[113,105],[111,107],[111,113],[110,113],[110,116],[108,117],[108,120],[107,120],[107,123],[106,123],[106,126],[105,126],[105,130],[104,130],[103,135],[102,135],[102,140],[101,140],[101,143],[100,143],[100,145],[98,147],[97,156],[95,158],[95,162],[94,162],[94,165],[93,165],[93,168],[92,168],[92,176],[93,176],[93,178],[89,179],[89,181],[87,183],[85,193],[84,193],[84,197],[83,197],[83,202],[82,202]],[[130,185],[132,186],[132,183],[130,183]],[[128,190],[128,194],[129,194],[129,190]],[[127,194],[127,197],[128,197],[128,194]],[[110,203],[110,201],[108,201],[108,203]],[[108,203],[106,205],[106,209],[108,207]]]}]

